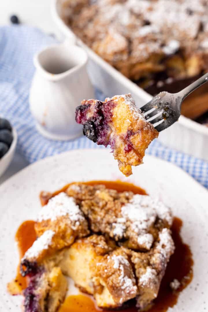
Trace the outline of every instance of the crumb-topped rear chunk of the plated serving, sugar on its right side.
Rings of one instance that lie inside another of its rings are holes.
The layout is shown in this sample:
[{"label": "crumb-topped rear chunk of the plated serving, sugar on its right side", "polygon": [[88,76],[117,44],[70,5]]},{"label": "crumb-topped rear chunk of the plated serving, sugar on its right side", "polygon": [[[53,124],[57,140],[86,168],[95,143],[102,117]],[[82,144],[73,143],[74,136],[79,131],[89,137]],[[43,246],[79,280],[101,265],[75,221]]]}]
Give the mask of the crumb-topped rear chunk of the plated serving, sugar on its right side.
[{"label": "crumb-topped rear chunk of the plated serving, sugar on its right side", "polygon": [[[163,227],[172,225],[171,209],[148,195],[118,193],[106,188],[80,186],[67,192],[77,198],[80,209],[90,221],[94,232],[108,234],[123,246],[135,250],[150,250]],[[86,196],[89,190],[90,196]]]}]

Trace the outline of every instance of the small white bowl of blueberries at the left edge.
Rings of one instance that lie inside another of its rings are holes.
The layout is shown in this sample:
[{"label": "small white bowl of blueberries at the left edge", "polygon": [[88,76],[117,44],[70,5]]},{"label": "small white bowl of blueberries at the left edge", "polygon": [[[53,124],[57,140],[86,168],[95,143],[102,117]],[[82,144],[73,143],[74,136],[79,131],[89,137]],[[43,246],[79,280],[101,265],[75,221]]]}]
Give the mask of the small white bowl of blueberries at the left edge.
[{"label": "small white bowl of blueberries at the left edge", "polygon": [[16,144],[17,132],[7,119],[0,117],[0,176],[12,161]]}]

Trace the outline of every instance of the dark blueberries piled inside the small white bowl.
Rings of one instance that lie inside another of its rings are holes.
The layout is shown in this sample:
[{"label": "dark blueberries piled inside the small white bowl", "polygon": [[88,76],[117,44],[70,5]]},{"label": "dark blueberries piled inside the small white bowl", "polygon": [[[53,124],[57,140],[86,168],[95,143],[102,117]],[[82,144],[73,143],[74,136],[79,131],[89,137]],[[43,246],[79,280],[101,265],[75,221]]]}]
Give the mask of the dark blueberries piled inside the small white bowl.
[{"label": "dark blueberries piled inside the small white bowl", "polygon": [[13,141],[12,126],[7,119],[0,118],[0,158],[9,150]]}]

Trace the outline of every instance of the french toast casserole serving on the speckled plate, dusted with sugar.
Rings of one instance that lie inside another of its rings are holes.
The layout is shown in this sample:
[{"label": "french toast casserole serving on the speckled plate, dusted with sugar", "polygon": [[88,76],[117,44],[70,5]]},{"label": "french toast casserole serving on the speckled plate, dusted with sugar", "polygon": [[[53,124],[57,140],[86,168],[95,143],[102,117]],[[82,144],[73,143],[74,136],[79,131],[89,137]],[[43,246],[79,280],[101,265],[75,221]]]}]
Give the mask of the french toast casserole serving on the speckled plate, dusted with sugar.
[{"label": "french toast casserole serving on the speckled plate, dusted with sugar", "polygon": [[67,291],[66,276],[104,309],[134,298],[139,311],[157,297],[174,252],[172,213],[148,195],[104,185],[73,183],[52,197],[43,192],[36,241],[21,260],[25,312],[55,312]]}]

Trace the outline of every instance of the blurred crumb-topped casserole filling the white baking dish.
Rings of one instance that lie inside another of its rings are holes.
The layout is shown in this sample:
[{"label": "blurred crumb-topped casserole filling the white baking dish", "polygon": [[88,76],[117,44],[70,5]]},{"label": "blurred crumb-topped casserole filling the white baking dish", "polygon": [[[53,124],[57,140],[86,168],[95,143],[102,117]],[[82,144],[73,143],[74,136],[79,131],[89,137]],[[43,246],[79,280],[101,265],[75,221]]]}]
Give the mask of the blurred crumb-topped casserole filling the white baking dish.
[{"label": "blurred crumb-topped casserole filling the white baking dish", "polygon": [[[178,92],[208,71],[207,0],[63,0],[61,16],[95,53],[148,93]],[[203,91],[202,91],[203,90]],[[196,91],[196,119],[208,111]],[[199,99],[200,98],[200,99]],[[185,103],[186,103],[185,101]]]}]

